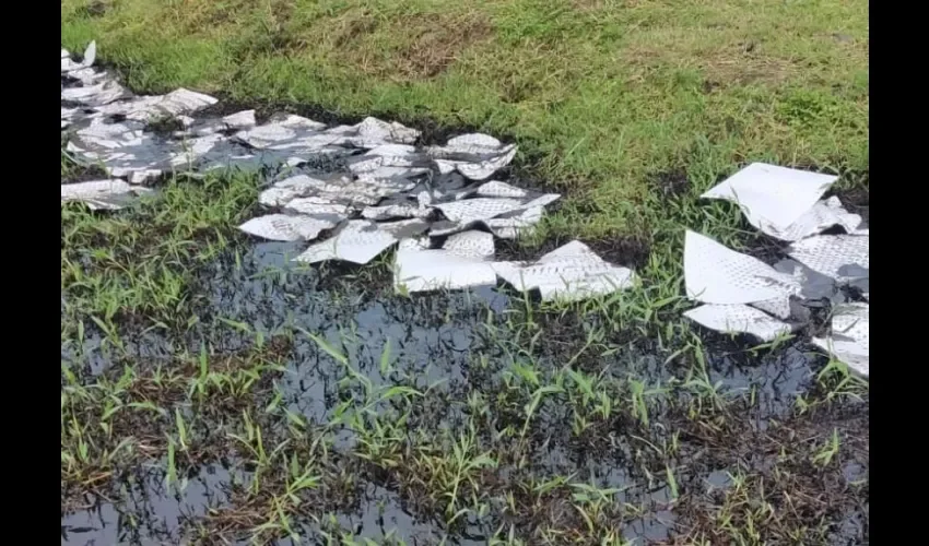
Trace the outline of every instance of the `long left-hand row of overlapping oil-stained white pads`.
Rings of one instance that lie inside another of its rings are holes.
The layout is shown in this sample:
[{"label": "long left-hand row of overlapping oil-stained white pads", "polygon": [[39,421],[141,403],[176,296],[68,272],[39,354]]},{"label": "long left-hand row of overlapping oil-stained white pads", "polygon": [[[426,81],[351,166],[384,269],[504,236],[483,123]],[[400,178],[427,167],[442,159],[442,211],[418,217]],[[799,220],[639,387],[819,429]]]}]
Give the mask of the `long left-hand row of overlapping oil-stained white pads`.
[{"label": "long left-hand row of overlapping oil-stained white pads", "polygon": [[[419,131],[376,118],[338,127],[295,115],[258,124],[254,110],[195,119],[217,100],[183,88],[133,96],[114,75],[93,68],[95,57],[93,43],[81,61],[61,50],[61,129],[68,130],[67,153],[102,166],[111,178],[62,185],[62,202],[119,209],[151,192],[142,185],[167,173],[262,170],[270,186],[259,200],[268,214],[240,229],[310,242],[299,262],[364,264],[397,245],[398,290],[465,288],[499,277],[520,289],[538,288],[544,299],[579,299],[633,280],[632,271],[579,241],[531,263],[493,261],[495,238],[532,229],[545,205],[560,198],[490,180],[516,156],[515,144],[472,133],[444,146],[418,146]],[[346,168],[310,176],[303,167],[320,156],[340,158]]]}]

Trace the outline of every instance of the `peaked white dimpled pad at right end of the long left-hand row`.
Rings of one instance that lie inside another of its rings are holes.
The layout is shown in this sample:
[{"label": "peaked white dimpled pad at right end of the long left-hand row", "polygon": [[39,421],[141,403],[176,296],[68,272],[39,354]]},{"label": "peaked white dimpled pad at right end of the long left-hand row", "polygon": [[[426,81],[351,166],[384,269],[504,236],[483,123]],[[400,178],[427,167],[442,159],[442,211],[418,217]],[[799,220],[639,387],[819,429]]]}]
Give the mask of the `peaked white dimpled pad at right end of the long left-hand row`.
[{"label": "peaked white dimpled pad at right end of the long left-hand row", "polygon": [[536,263],[498,269],[497,274],[520,292],[538,288],[543,300],[563,301],[611,294],[635,281],[632,270],[605,262],[580,241],[549,252]]}]

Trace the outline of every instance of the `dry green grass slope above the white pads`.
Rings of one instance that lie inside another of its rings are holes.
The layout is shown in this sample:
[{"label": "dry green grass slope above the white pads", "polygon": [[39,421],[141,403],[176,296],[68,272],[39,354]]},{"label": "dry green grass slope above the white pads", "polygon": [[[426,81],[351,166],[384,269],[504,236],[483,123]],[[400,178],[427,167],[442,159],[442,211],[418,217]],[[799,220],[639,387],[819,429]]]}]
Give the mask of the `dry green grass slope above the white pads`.
[{"label": "dry green grass slope above the white pads", "polygon": [[748,161],[869,167],[863,0],[87,3],[62,2],[62,45],[96,39],[139,91],[509,135],[568,192],[555,233],[649,233],[660,173],[702,190]]}]

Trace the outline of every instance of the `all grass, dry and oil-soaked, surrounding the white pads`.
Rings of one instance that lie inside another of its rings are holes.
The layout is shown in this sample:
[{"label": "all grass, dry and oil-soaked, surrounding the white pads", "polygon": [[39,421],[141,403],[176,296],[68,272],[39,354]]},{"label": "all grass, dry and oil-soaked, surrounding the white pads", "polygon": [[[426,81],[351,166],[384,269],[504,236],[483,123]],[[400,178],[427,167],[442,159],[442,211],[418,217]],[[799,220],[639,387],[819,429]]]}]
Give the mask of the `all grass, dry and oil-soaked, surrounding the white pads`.
[{"label": "all grass, dry and oil-soaked, surrounding the white pads", "polygon": [[[177,86],[520,144],[642,283],[576,305],[392,294],[390,257],[291,268],[235,228],[252,176],[61,210],[61,515],[97,543],[857,544],[869,384],[680,313],[684,227],[766,251],[697,195],[748,161],[868,201],[868,3],[61,3],[137,92]],[[62,155],[61,178],[98,173]],[[212,486],[210,485],[212,484]],[[214,490],[216,489],[216,490]],[[212,491],[212,492],[211,492]],[[104,508],[101,508],[104,507]],[[98,515],[104,518],[104,515]],[[118,523],[118,525],[116,525]]]}]

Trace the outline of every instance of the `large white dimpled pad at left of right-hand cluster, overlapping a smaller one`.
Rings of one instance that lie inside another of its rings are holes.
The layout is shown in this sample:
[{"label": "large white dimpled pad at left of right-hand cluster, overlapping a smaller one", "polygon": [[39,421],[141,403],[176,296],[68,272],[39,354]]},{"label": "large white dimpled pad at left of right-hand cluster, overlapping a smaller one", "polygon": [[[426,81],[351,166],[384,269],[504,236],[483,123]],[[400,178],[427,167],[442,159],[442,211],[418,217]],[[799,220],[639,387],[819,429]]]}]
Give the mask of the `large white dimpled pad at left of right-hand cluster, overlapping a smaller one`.
[{"label": "large white dimpled pad at left of right-hand cluster, overlapping a smaller one", "polygon": [[800,294],[792,275],[687,230],[684,239],[687,297],[704,304],[752,304]]}]

